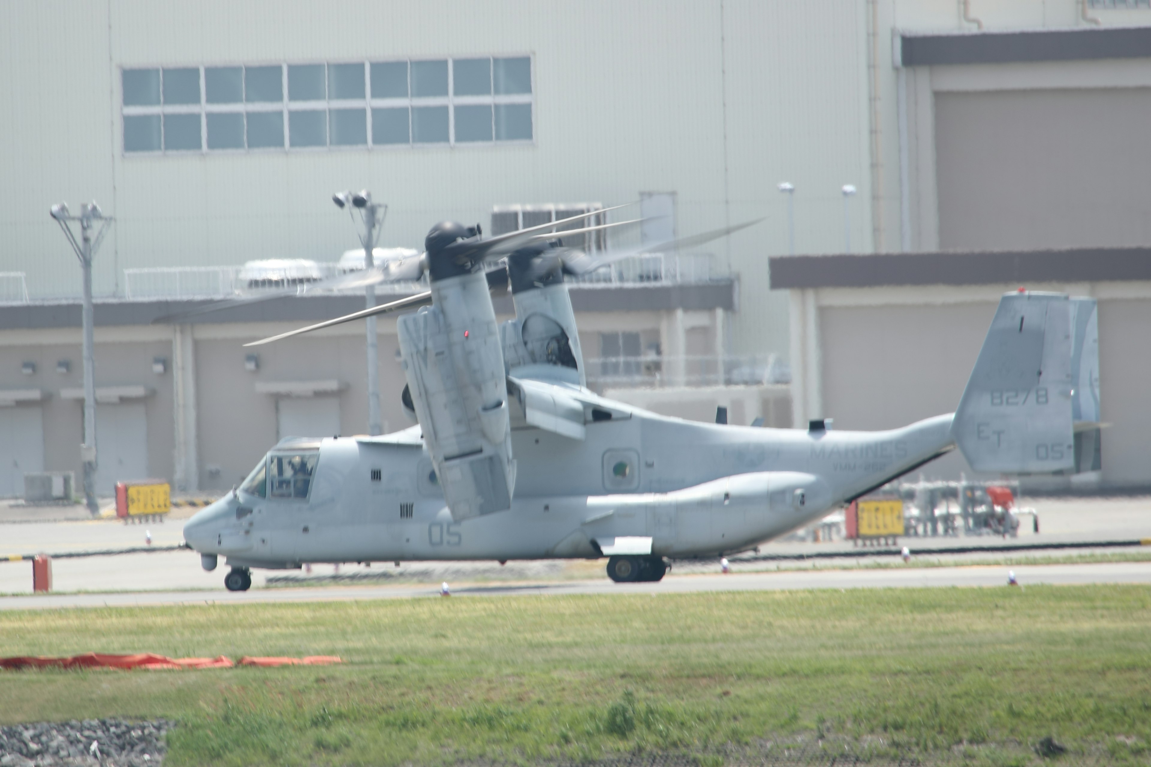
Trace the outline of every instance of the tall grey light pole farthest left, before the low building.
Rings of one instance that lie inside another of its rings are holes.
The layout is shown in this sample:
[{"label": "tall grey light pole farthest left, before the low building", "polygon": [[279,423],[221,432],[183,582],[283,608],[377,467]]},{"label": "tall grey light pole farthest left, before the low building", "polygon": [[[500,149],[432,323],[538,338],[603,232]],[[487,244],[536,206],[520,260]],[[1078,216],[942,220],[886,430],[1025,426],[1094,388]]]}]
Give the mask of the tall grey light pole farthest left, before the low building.
[{"label": "tall grey light pole farthest left, before the low building", "polygon": [[[79,259],[79,266],[84,273],[84,308],[81,312],[84,339],[84,444],[79,447],[79,455],[84,465],[84,503],[87,505],[87,511],[96,515],[100,513],[100,506],[96,503],[96,358],[92,353],[92,256],[100,250],[104,235],[112,225],[112,216],[105,216],[96,200],[82,205],[78,216],[68,212],[67,202],[53,205],[51,214],[68,237],[73,250],[76,251],[76,258]],[[79,241],[76,240],[76,235],[69,225],[73,221],[79,222]],[[99,231],[93,238],[92,230],[97,222],[99,222]]]}]

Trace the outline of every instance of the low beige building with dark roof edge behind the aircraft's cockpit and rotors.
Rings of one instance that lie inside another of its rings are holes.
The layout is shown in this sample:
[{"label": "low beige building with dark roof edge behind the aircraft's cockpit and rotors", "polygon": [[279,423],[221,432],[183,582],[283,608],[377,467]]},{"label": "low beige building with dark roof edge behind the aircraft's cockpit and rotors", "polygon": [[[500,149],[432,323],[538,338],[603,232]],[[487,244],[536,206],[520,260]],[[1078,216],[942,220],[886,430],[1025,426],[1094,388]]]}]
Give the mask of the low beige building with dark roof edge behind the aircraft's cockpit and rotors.
[{"label": "low beige building with dark roof edge behind the aircraft's cockpit and rotors", "polygon": [[[714,335],[733,307],[734,281],[573,289],[588,382],[683,388],[701,359],[688,336]],[[98,492],[116,481],[163,477],[180,491],[221,491],[285,436],[364,434],[364,327],[348,323],[245,350],[243,344],[363,307],[361,296],[276,299],[173,324],[163,317],[203,301],[100,301],[96,306]],[[496,300],[502,321],[513,316]],[[157,322],[160,320],[160,322]],[[83,394],[76,301],[0,307],[0,497],[23,492],[23,473],[79,471]],[[623,330],[620,330],[623,329]],[[378,327],[384,431],[411,425],[395,317]],[[616,344],[654,339],[655,369],[638,358],[592,358]],[[666,369],[661,369],[665,366]],[[760,371],[761,378],[765,371]],[[744,382],[747,383],[746,381]],[[762,381],[761,381],[762,383]],[[741,389],[756,389],[742,386]],[[765,386],[760,386],[765,389]],[[777,393],[778,396],[778,393]],[[714,413],[714,407],[712,407]]]}]

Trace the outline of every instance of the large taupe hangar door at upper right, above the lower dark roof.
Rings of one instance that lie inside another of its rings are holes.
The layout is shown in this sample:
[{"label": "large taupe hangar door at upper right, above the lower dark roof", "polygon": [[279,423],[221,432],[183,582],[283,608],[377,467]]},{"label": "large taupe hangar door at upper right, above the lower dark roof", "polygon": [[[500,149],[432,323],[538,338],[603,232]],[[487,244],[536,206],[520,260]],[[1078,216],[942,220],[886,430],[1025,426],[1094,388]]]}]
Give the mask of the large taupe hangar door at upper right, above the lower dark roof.
[{"label": "large taupe hangar door at upper right, above the lower dark roof", "polygon": [[935,94],[942,250],[1151,245],[1151,89]]}]

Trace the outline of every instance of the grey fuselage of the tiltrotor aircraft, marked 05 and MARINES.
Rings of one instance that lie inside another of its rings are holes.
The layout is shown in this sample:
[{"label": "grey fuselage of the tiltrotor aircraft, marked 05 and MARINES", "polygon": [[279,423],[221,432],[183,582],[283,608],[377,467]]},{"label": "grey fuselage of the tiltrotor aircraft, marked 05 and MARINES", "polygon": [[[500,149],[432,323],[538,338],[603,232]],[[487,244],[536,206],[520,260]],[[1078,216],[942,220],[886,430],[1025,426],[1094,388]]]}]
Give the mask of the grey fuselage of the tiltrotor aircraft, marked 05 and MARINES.
[{"label": "grey fuselage of the tiltrotor aircraft, marked 05 and MARINES", "polygon": [[648,536],[657,555],[712,557],[820,519],[953,446],[951,415],[889,431],[803,431],[611,405],[623,417],[589,422],[584,439],[513,430],[508,511],[453,521],[413,427],[320,440],[306,498],[241,489],[198,513],[184,537],[233,566],[268,568],[595,558],[597,542],[617,536]]}]

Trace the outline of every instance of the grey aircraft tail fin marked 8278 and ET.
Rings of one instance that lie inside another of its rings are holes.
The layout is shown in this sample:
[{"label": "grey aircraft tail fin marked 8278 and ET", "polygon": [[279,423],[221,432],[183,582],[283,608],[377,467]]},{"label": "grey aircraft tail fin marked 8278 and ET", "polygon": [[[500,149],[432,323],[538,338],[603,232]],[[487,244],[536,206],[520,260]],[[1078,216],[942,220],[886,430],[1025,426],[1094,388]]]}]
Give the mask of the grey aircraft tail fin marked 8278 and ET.
[{"label": "grey aircraft tail fin marked 8278 and ET", "polygon": [[[1004,296],[952,423],[971,468],[1008,474],[1098,468],[1098,370],[1093,299]],[[1084,428],[1091,439],[1076,438]]]}]

